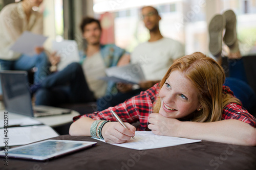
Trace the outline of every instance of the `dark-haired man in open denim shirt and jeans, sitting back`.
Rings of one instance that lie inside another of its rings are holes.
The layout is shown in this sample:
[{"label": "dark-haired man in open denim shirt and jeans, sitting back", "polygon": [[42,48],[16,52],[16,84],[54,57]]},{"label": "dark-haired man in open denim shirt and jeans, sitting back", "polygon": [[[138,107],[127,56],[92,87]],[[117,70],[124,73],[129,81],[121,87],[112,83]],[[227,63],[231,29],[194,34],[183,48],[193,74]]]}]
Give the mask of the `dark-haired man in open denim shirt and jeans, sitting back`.
[{"label": "dark-haired man in open denim shirt and jeans, sitting back", "polygon": [[79,54],[80,63],[71,63],[48,76],[36,92],[36,105],[88,103],[115,91],[114,83],[99,78],[105,76],[106,68],[129,63],[129,54],[115,44],[100,44],[99,20],[85,17],[80,29],[86,40],[86,46]]}]

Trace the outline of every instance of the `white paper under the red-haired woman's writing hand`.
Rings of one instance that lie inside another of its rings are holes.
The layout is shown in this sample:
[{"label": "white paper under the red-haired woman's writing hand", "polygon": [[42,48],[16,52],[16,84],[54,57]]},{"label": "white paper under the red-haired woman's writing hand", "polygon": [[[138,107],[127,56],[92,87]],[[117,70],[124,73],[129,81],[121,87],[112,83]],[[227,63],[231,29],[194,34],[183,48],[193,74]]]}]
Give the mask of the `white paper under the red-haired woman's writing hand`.
[{"label": "white paper under the red-haired woman's writing hand", "polygon": [[[130,139],[126,143],[113,144],[118,147],[130,148],[135,150],[148,150],[164,147],[172,147],[175,145],[186,144],[186,143],[195,143],[201,142],[202,140],[187,139],[181,137],[170,137],[170,136],[160,136],[155,135],[151,131],[136,131],[135,140]],[[100,141],[105,142],[102,139],[94,138]]]}]

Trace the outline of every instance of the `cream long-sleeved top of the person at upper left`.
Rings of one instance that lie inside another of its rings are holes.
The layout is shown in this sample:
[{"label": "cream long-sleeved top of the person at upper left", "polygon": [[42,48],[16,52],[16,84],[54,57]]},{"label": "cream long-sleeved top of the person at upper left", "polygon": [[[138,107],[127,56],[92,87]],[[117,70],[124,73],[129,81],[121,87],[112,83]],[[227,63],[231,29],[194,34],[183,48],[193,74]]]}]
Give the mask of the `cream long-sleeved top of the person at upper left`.
[{"label": "cream long-sleeved top of the person at upper left", "polygon": [[42,14],[32,11],[29,21],[21,3],[7,5],[0,13],[0,59],[15,60],[20,54],[9,48],[24,31],[42,34]]}]

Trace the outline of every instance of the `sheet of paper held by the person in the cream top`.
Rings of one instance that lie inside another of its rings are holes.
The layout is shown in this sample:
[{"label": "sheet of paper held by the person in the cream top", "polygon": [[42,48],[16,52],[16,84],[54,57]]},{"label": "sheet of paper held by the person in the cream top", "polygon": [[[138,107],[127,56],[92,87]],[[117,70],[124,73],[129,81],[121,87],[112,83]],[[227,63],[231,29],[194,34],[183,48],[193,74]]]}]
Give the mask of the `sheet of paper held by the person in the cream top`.
[{"label": "sheet of paper held by the person in the cream top", "polygon": [[43,46],[48,37],[25,31],[11,46],[10,50],[18,53],[35,55],[35,47]]}]

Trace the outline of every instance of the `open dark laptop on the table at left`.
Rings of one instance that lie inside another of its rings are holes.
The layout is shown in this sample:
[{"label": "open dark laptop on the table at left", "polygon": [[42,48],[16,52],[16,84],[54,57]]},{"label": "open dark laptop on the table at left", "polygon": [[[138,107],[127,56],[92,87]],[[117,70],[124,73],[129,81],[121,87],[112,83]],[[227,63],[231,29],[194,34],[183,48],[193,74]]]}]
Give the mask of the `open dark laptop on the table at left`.
[{"label": "open dark laptop on the table at left", "polygon": [[5,109],[8,112],[32,117],[71,113],[70,109],[33,106],[27,71],[0,71]]}]

